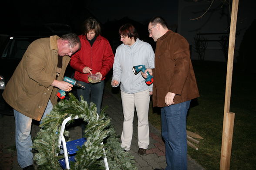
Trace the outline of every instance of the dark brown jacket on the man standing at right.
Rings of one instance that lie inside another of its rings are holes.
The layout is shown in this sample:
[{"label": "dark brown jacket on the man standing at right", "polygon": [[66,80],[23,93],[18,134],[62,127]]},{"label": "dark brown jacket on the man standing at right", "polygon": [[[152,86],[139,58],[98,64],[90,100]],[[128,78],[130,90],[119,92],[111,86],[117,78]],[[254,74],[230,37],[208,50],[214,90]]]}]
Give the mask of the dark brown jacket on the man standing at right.
[{"label": "dark brown jacket on the man standing at right", "polygon": [[169,30],[157,40],[153,76],[154,106],[167,106],[165,104],[167,92],[176,94],[175,104],[199,97],[189,43],[178,33]]}]

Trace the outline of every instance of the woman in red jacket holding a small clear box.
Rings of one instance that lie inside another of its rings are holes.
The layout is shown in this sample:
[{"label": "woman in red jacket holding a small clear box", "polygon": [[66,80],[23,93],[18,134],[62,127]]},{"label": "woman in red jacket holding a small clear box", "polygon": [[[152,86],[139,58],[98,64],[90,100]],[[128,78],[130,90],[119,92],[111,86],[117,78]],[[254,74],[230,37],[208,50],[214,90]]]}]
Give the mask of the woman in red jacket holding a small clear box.
[{"label": "woman in red jacket holding a small clear box", "polygon": [[[114,54],[108,40],[100,35],[101,26],[97,20],[88,18],[83,26],[84,32],[79,36],[81,49],[71,57],[70,65],[76,70],[74,78],[85,87],[77,88],[79,100],[83,96],[88,104],[94,102],[100,114],[104,79],[113,67]],[[101,82],[88,82],[90,74],[100,75]]]}]

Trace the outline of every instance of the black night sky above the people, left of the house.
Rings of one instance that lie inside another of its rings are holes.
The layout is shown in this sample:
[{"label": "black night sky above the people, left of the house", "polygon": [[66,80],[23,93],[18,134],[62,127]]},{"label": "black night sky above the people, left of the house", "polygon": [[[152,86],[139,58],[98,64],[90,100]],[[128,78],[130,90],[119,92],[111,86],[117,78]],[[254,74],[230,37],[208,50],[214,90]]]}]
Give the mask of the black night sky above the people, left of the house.
[{"label": "black night sky above the people, left of the house", "polygon": [[0,11],[0,34],[41,23],[65,23],[77,30],[89,15],[102,24],[125,16],[144,24],[153,16],[162,16],[168,24],[177,24],[178,17],[178,0],[9,0],[1,2],[1,7],[7,12]]}]

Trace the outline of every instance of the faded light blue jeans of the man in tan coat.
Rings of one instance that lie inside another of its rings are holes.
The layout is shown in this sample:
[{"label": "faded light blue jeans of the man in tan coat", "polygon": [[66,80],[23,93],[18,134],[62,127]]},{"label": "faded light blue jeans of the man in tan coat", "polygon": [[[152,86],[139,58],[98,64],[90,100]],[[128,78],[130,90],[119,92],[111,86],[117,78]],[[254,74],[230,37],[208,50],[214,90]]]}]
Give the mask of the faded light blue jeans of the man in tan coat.
[{"label": "faded light blue jeans of the man in tan coat", "polygon": [[[52,108],[53,105],[49,100],[42,118],[49,114]],[[17,159],[20,167],[24,168],[33,164],[33,144],[30,135],[32,119],[18,112],[15,109],[13,109],[13,112],[15,117],[15,142]]]}]

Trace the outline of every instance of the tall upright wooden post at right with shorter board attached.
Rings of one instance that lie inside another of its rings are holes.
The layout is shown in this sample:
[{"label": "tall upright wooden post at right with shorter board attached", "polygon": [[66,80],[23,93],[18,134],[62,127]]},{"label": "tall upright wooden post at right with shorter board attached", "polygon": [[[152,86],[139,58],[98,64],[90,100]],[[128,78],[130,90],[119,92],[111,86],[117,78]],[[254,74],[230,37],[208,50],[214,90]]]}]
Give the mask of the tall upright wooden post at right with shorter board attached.
[{"label": "tall upright wooden post at right with shorter board attached", "polygon": [[226,77],[226,93],[225,93],[225,105],[224,105],[224,117],[223,117],[223,130],[222,130],[222,146],[220,155],[220,170],[229,170],[233,127],[235,113],[229,112],[230,108],[230,96],[232,85],[232,70],[234,60],[234,49],[236,39],[236,19],[239,0],[232,1],[231,23],[229,33],[229,55],[227,64],[227,77]]}]

